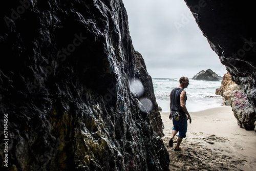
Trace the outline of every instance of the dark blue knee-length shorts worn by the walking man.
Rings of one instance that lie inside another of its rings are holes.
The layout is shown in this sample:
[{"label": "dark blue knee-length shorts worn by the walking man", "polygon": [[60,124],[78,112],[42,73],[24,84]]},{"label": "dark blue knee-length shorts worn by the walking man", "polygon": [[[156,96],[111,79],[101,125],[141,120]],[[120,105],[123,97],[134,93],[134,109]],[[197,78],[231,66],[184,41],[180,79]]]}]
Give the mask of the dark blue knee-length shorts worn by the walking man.
[{"label": "dark blue knee-length shorts worn by the walking man", "polygon": [[175,120],[173,117],[173,124],[174,128],[173,130],[179,132],[180,138],[186,138],[186,133],[187,133],[187,118],[181,117],[180,120]]}]

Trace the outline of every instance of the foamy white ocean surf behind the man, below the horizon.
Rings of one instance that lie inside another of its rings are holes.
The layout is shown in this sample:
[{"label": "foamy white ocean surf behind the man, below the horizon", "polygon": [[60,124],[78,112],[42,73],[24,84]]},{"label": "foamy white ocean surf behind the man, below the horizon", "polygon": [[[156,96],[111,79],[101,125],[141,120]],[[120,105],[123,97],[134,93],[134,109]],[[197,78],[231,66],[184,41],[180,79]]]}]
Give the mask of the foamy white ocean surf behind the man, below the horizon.
[{"label": "foamy white ocean surf behind the man, below the horizon", "polygon": [[[188,112],[198,112],[224,105],[222,96],[215,91],[221,86],[221,81],[199,81],[189,79],[186,108]],[[156,101],[162,112],[170,112],[170,92],[179,87],[179,78],[152,78]]]}]

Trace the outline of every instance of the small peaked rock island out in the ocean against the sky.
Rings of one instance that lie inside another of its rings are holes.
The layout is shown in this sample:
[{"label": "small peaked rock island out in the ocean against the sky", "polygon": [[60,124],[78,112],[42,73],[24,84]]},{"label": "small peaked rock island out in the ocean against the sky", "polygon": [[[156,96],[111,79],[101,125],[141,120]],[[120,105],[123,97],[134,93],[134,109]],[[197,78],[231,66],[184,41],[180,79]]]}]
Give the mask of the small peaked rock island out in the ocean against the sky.
[{"label": "small peaked rock island out in the ocean against the sky", "polygon": [[222,77],[218,76],[218,74],[213,72],[211,69],[208,69],[206,71],[204,70],[200,71],[192,79],[205,80],[205,81],[219,81],[222,79]]}]

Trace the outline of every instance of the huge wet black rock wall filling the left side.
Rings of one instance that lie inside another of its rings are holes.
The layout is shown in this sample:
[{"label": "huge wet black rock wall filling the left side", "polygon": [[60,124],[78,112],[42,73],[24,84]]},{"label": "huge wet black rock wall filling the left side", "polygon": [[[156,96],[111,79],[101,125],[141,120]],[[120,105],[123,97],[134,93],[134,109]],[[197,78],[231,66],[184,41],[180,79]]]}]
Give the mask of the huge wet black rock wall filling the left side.
[{"label": "huge wet black rock wall filling the left side", "polygon": [[5,1],[0,11],[1,168],[7,154],[10,170],[168,170],[122,1]]}]

